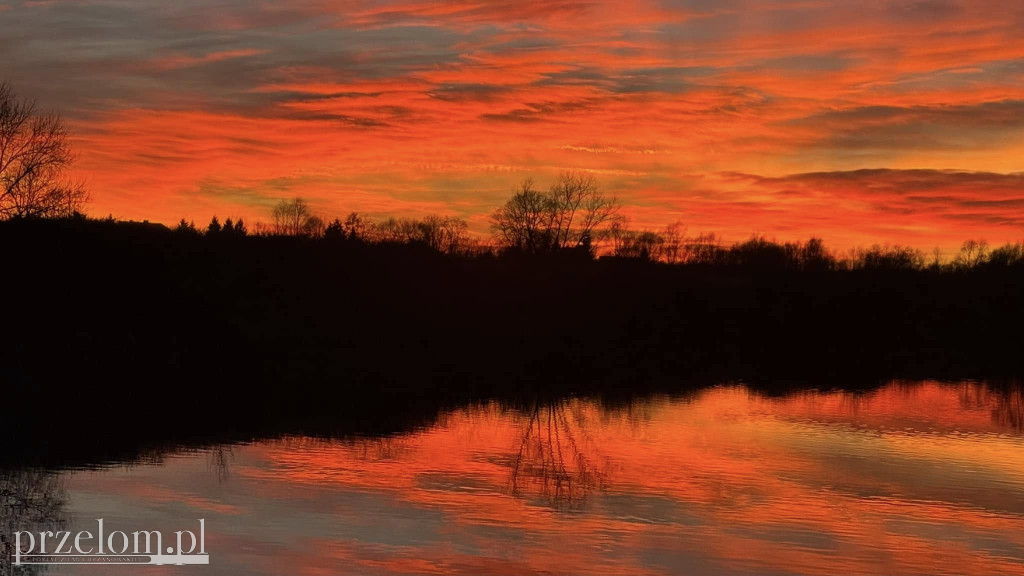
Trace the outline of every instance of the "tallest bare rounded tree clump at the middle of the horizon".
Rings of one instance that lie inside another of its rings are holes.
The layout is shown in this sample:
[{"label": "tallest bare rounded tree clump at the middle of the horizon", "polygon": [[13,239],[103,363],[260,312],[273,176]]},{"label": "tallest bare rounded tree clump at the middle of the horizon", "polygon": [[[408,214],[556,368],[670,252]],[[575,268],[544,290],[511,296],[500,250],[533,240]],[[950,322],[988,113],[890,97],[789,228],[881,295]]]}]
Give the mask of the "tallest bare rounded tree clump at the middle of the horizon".
[{"label": "tallest bare rounded tree clump at the middle of the horizon", "polygon": [[601,239],[602,228],[618,210],[614,198],[601,194],[597,180],[584,172],[563,172],[547,194],[526,178],[490,216],[499,244],[527,252],[586,246]]}]

